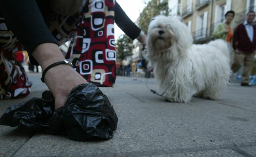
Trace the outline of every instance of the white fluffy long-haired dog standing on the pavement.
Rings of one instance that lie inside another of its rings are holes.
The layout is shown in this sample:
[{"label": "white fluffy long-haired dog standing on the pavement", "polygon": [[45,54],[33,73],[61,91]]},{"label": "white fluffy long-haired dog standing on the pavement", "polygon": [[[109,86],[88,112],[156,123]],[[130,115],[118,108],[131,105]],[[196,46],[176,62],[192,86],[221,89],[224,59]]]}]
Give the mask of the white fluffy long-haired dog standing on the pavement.
[{"label": "white fluffy long-haired dog standing on the pavement", "polygon": [[156,16],[148,29],[148,59],[166,101],[190,102],[192,96],[217,99],[231,70],[224,40],[192,45],[187,26],[174,17]]}]

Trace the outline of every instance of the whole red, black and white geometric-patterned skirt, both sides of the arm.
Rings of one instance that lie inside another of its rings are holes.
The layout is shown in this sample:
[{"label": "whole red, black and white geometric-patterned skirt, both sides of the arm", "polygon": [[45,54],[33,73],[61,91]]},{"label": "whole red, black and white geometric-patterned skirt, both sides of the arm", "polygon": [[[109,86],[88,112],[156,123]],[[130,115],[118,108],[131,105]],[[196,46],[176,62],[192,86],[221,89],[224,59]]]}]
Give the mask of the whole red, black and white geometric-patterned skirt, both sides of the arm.
[{"label": "whole red, black and white geometric-patterned skirt, both sides of the arm", "polygon": [[[46,21],[59,45],[71,40],[66,59],[88,82],[98,86],[112,87],[116,78],[114,4],[114,0],[83,0],[73,16],[53,13]],[[30,93],[31,83],[14,57],[21,49],[21,43],[0,17],[0,99]]]}]

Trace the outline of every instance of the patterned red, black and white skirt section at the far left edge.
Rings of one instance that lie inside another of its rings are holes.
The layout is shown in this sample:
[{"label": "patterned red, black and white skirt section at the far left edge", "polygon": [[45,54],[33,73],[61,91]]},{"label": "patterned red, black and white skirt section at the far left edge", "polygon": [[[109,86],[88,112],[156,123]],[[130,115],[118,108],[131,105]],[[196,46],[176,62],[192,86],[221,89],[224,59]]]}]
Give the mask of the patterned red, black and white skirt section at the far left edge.
[{"label": "patterned red, black and white skirt section at the far left edge", "polygon": [[22,98],[30,94],[32,83],[15,59],[15,52],[21,50],[16,36],[7,28],[0,17],[0,99]]}]

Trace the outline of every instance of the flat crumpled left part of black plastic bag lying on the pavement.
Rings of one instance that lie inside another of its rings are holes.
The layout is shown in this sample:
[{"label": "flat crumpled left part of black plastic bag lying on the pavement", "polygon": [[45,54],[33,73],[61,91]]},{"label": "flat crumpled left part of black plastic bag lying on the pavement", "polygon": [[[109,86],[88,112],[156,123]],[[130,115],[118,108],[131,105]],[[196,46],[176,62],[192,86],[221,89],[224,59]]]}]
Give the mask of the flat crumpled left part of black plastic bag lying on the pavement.
[{"label": "flat crumpled left part of black plastic bag lying on the pavement", "polygon": [[[43,92],[43,94],[46,92]],[[18,105],[12,105],[0,118],[5,126],[27,126],[32,130],[46,130],[53,114],[54,99],[33,98]]]}]

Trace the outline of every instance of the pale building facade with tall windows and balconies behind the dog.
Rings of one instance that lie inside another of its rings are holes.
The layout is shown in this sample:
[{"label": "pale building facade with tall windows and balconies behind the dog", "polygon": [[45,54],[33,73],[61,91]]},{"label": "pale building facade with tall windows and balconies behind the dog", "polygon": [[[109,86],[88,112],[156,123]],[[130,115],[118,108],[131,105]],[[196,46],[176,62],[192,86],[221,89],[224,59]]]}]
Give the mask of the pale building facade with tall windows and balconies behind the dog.
[{"label": "pale building facade with tall windows and balconies behind the dog", "polygon": [[248,11],[256,10],[256,0],[169,0],[171,16],[179,16],[193,36],[194,43],[206,43],[225,13],[235,11],[231,25],[235,28],[245,21]]}]

